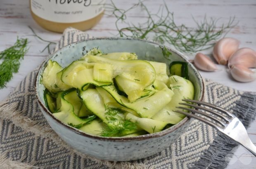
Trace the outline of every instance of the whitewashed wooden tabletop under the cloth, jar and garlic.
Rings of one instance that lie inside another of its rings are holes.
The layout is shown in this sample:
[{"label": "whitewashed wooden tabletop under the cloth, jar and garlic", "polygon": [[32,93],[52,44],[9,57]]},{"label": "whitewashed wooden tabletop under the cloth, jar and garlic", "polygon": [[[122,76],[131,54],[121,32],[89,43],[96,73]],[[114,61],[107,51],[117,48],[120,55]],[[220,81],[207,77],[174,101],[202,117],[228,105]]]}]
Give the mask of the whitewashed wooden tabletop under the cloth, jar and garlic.
[{"label": "whitewashed wooden tabletop under the cloth, jar and garlic", "polygon": [[[235,16],[235,21],[239,21],[237,26],[228,33],[228,37],[237,38],[241,41],[240,47],[250,47],[256,50],[256,1],[255,0],[165,0],[177,23],[184,23],[194,26],[192,16],[197,21],[202,21],[206,14],[207,17],[222,18],[220,23],[228,21],[230,16]],[[121,1],[115,0],[121,8],[137,3],[137,0]],[[145,4],[154,13],[163,1],[146,0]],[[133,21],[140,18],[140,11],[133,15]],[[113,36],[116,34],[114,17],[104,16],[97,26],[87,31],[94,37]],[[19,82],[24,79],[27,73],[35,69],[48,55],[47,51],[40,52],[46,45],[32,36],[31,26],[40,37],[46,40],[57,42],[61,36],[59,33],[52,33],[40,28],[33,21],[29,12],[28,0],[0,0],[0,51],[14,44],[17,36],[29,39],[29,50],[24,60],[21,62],[19,73],[14,74],[13,79],[7,83],[7,87],[0,89],[0,101],[7,98]],[[53,48],[53,47],[52,47]],[[207,51],[209,54],[210,52]],[[193,58],[191,55],[190,58]],[[1,61],[0,61],[1,63]],[[203,77],[216,82],[223,83],[235,89],[256,92],[256,81],[249,83],[235,82],[229,76],[225,67],[218,66],[220,71],[214,73],[201,72]],[[1,77],[0,77],[1,78]],[[254,144],[256,144],[256,120],[251,124],[248,133]],[[235,168],[256,168],[256,157],[247,150],[239,147],[228,166]]]}]

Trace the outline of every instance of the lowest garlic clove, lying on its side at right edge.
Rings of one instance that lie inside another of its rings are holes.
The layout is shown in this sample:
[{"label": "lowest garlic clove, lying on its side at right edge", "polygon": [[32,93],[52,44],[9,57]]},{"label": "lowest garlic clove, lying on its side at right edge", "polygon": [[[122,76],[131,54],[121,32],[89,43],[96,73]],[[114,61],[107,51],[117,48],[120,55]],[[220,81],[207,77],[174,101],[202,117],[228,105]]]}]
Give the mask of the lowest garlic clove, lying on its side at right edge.
[{"label": "lowest garlic clove, lying on its side at right edge", "polygon": [[256,79],[256,71],[252,71],[243,65],[232,65],[230,73],[239,82],[251,82]]}]

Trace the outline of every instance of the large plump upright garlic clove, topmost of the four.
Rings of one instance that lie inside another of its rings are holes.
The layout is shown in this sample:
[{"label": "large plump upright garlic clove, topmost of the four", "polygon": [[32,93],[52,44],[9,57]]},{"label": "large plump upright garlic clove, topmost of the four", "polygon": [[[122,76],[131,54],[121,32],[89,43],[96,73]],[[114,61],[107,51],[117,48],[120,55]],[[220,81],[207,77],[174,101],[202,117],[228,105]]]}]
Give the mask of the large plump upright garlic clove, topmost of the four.
[{"label": "large plump upright garlic clove, topmost of the four", "polygon": [[213,56],[221,65],[226,65],[230,56],[237,51],[240,41],[234,38],[223,38],[213,47]]}]

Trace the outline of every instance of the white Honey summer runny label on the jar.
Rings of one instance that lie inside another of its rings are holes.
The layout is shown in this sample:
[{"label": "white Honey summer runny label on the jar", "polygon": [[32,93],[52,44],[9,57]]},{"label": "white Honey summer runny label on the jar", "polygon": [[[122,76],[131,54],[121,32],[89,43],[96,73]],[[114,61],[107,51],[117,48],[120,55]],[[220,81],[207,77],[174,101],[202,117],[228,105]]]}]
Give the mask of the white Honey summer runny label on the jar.
[{"label": "white Honey summer runny label on the jar", "polygon": [[60,23],[92,19],[104,10],[105,0],[31,0],[34,14]]}]

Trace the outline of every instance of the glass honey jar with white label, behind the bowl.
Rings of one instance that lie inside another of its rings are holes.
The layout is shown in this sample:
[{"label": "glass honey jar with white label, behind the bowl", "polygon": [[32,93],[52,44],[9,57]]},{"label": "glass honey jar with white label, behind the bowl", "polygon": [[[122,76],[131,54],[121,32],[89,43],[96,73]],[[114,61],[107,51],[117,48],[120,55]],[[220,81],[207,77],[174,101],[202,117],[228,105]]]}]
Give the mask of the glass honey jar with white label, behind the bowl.
[{"label": "glass honey jar with white label, behind the bowl", "polygon": [[104,3],[105,0],[30,0],[30,11],[47,30],[62,33],[71,26],[85,31],[100,21]]}]

